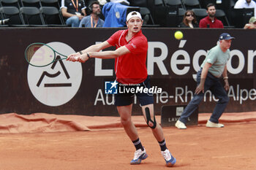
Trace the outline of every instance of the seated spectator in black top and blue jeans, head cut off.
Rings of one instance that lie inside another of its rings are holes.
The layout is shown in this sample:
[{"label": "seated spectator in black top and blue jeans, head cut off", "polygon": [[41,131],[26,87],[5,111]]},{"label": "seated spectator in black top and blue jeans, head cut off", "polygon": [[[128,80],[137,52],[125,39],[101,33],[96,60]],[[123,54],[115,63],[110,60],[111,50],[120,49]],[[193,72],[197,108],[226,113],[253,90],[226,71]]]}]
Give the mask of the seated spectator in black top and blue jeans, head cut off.
[{"label": "seated spectator in black top and blue jeans, head cut off", "polygon": [[83,0],[61,0],[61,13],[66,24],[78,27],[80,20],[86,16],[86,5]]}]

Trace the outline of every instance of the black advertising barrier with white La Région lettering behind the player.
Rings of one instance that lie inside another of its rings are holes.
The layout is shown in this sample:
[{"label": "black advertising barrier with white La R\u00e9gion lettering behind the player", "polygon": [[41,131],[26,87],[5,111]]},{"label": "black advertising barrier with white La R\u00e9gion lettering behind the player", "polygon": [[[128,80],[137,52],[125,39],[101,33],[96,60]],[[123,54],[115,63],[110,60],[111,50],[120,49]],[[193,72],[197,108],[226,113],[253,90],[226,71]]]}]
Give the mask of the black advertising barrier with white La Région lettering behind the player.
[{"label": "black advertising barrier with white La R\u00e9gion lettering behind the player", "polygon": [[[52,45],[69,55],[105,41],[118,28],[1,28],[0,113],[48,112],[73,115],[118,115],[113,95],[105,94],[105,82],[114,81],[114,60],[91,59],[80,64],[58,61],[45,68],[26,63],[24,50],[34,42]],[[148,74],[151,86],[162,88],[154,94],[155,111],[164,105],[186,105],[195,90],[193,77],[219,34],[228,32],[233,40],[227,64],[230,103],[225,112],[255,111],[255,39],[253,30],[180,28],[184,39],[174,38],[176,28],[143,28],[148,38]],[[114,48],[110,48],[113,50]],[[40,81],[39,81],[40,80]],[[212,112],[217,101],[207,92],[199,112]],[[138,101],[134,115],[141,115]]]}]

